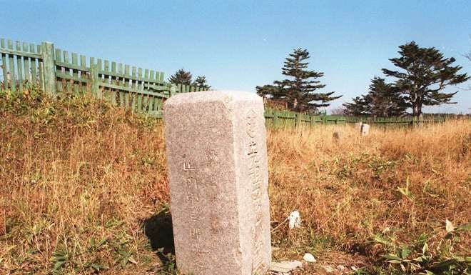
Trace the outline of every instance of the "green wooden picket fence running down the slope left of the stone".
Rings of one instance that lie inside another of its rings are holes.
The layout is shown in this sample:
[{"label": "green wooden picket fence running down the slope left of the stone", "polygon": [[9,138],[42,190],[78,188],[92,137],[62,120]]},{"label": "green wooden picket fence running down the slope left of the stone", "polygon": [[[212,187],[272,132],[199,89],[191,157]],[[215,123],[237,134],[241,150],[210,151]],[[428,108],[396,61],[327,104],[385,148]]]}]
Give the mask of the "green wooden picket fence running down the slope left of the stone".
[{"label": "green wooden picket fence running down the slope left of the stone", "polygon": [[164,81],[161,71],[141,69],[41,45],[0,39],[1,88],[22,92],[39,86],[53,96],[64,92],[91,93],[133,111],[161,116],[163,99],[176,93],[200,91]]}]

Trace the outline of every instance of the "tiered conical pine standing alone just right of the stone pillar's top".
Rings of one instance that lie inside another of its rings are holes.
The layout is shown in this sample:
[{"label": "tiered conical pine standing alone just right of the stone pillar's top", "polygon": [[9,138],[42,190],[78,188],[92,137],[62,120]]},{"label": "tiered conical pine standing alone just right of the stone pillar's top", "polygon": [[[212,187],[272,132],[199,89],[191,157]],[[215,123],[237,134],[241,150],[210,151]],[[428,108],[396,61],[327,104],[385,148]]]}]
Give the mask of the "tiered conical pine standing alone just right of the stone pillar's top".
[{"label": "tiered conical pine standing alone just right of the stone pillar's top", "polygon": [[313,112],[321,106],[329,106],[330,101],[341,96],[332,96],[334,91],[318,93],[325,84],[316,80],[324,75],[322,72],[308,70],[309,52],[306,49],[295,49],[286,58],[282,74],[290,79],[273,81],[274,85],[257,86],[257,94],[270,99],[283,99],[293,111]]}]

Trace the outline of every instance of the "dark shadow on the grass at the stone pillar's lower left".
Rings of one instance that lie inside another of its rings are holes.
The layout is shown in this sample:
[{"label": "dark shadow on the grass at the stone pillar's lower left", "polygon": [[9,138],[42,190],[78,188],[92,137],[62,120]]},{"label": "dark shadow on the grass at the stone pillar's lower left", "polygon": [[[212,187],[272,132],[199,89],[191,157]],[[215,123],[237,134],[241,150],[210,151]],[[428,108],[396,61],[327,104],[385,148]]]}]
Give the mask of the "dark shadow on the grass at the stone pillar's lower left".
[{"label": "dark shadow on the grass at the stone pillar's lower left", "polygon": [[[146,234],[153,251],[162,263],[173,261],[175,244],[173,244],[172,216],[168,211],[161,211],[143,222],[144,234]],[[169,255],[170,254],[170,255]]]}]

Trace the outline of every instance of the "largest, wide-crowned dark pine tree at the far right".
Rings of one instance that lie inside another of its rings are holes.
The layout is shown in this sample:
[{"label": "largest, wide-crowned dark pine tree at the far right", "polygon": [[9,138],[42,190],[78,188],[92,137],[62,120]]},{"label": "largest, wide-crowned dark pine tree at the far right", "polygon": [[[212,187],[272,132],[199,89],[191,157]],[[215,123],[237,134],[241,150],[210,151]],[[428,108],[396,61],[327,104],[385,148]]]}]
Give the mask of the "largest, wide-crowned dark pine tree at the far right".
[{"label": "largest, wide-crowned dark pine tree at the far right", "polygon": [[412,108],[412,115],[420,116],[422,106],[454,104],[457,93],[445,93],[446,86],[460,84],[470,79],[467,74],[458,74],[461,66],[450,66],[454,58],[444,58],[437,49],[422,48],[414,41],[399,46],[399,58],[390,59],[401,71],[383,69],[386,76],[393,76],[395,86],[405,95]]}]

